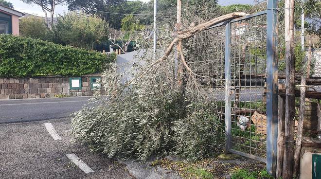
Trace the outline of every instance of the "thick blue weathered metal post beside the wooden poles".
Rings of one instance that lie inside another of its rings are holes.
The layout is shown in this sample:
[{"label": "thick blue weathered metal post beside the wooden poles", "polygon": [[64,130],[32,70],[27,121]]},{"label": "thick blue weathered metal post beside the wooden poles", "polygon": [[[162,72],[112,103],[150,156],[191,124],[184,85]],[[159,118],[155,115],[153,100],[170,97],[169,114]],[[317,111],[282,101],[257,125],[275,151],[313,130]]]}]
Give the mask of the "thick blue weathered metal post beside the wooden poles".
[{"label": "thick blue weathered metal post beside the wooden poles", "polygon": [[267,172],[275,176],[278,138],[278,0],[267,0]]}]

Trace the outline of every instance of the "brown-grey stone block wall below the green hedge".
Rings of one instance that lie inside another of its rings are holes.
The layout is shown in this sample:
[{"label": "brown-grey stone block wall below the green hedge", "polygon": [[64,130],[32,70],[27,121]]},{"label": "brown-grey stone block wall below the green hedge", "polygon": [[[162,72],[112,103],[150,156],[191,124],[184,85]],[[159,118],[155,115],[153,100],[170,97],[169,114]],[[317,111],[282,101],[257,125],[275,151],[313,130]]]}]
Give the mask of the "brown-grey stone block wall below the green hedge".
[{"label": "brown-grey stone block wall below the green hedge", "polygon": [[0,78],[0,100],[50,98],[57,96],[91,96],[90,77],[82,76],[82,89],[70,90],[69,77]]}]

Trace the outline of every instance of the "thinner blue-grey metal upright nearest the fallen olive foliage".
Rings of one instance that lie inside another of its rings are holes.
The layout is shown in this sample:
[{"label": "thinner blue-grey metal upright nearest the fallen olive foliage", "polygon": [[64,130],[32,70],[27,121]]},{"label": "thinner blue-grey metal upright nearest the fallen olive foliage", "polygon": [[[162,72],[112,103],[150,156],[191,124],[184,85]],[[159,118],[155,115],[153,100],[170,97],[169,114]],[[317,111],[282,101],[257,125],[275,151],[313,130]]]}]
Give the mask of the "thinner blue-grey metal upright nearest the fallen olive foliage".
[{"label": "thinner blue-grey metal upright nearest the fallen olive foliage", "polygon": [[231,66],[230,66],[230,45],[231,45],[231,23],[226,24],[225,30],[225,134],[226,143],[225,150],[231,149]]}]

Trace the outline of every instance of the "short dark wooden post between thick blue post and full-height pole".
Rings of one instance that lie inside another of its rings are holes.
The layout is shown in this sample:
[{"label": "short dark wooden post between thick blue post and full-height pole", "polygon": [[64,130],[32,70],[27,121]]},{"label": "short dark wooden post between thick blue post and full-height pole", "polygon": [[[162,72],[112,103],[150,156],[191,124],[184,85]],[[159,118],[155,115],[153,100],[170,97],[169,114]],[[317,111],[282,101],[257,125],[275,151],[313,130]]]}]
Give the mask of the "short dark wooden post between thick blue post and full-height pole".
[{"label": "short dark wooden post between thick blue post and full-height pole", "polygon": [[[279,89],[285,89],[284,84],[279,85]],[[283,157],[284,157],[284,134],[285,134],[285,96],[278,97],[278,156],[276,162],[276,179],[282,177]]]}]

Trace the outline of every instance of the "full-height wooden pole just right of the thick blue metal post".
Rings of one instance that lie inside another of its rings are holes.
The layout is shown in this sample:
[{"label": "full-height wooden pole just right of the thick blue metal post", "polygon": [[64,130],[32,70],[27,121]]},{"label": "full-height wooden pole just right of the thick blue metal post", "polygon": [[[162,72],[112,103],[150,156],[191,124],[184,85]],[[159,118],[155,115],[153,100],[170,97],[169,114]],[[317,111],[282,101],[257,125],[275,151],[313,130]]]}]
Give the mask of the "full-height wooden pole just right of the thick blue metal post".
[{"label": "full-height wooden pole just right of the thick blue metal post", "polygon": [[292,179],[295,118],[294,0],[285,0],[285,153],[283,179]]}]

